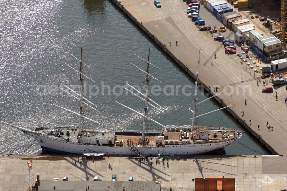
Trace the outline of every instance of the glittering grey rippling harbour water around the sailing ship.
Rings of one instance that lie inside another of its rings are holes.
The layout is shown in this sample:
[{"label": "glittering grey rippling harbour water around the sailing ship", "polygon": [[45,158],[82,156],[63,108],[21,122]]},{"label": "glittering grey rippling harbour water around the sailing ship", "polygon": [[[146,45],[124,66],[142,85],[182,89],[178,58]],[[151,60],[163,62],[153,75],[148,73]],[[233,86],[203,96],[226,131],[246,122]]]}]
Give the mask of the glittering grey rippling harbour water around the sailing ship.
[{"label": "glittering grey rippling harbour water around the sailing ship", "polygon": [[[193,79],[158,49],[111,1],[4,1],[0,10],[0,118],[8,123],[28,129],[77,125],[77,117],[51,105],[58,104],[77,112],[76,100],[51,88],[61,83],[79,83],[79,75],[65,66],[64,62],[78,70],[79,62],[67,52],[79,58],[80,47],[84,50],[84,62],[92,68],[85,67],[84,72],[96,81],[91,83],[87,80],[87,87],[94,85],[100,88],[99,95],[88,94],[90,100],[98,105],[99,112],[86,110],[85,115],[102,125],[84,122],[86,127],[141,129],[141,117],[115,101],[137,111],[142,110],[143,103],[131,95],[108,95],[108,88],[101,91],[101,87],[104,83],[113,89],[115,85],[125,85],[126,81],[142,87],[145,74],[130,62],[145,70],[146,64],[134,54],[147,59],[149,47],[150,62],[161,68],[151,67],[150,73],[163,82],[152,80],[152,85],[162,88],[166,85],[194,87]],[[92,90],[96,91],[96,88]],[[119,88],[115,90],[119,93]],[[189,91],[194,93],[194,89]],[[45,95],[44,92],[48,93]],[[205,98],[204,95],[199,96],[199,100]],[[153,119],[164,125],[191,124],[192,114],[188,108],[192,106],[192,96],[185,96],[181,91],[174,96],[166,96],[161,92],[153,99],[169,110],[165,115],[151,110]],[[208,100],[201,104],[198,113],[219,107],[213,100]],[[200,119],[199,125],[242,129],[224,111]],[[6,125],[0,127],[0,154],[42,152],[37,143],[30,146],[33,139],[19,130]],[[150,128],[159,127],[151,123]],[[244,133],[239,142],[253,150],[234,142],[225,149],[226,154],[269,154],[248,133]]]}]

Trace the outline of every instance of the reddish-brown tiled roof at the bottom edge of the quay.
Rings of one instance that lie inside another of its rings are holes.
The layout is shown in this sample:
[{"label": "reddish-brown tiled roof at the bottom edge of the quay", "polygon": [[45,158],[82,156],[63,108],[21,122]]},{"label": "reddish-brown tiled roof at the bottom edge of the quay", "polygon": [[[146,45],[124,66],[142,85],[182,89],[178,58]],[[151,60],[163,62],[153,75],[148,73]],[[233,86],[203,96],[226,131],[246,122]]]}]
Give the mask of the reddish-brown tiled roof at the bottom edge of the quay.
[{"label": "reddish-brown tiled roof at the bottom edge of the quay", "polygon": [[234,178],[195,178],[195,191],[217,191],[222,182],[222,191],[235,191]]}]

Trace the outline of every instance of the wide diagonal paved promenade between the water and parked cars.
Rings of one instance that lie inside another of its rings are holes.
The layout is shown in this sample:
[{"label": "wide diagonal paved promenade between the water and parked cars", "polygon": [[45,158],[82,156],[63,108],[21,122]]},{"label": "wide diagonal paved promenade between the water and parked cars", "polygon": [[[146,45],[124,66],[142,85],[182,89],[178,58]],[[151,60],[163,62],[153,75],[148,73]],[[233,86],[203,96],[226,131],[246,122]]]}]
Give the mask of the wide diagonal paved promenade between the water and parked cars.
[{"label": "wide diagonal paved promenade between the water and parked cars", "polygon": [[[187,17],[187,5],[182,0],[161,1],[162,7],[156,8],[153,1],[133,1],[114,0],[121,9],[124,9],[128,16],[134,18],[139,27],[143,26],[147,33],[151,33],[151,38],[159,41],[163,49],[189,73],[195,74],[197,71],[197,57],[201,50],[199,69],[199,79],[209,88],[209,93],[214,94],[213,85],[218,91],[224,87],[232,87],[226,95],[218,96],[218,101],[225,105],[236,104],[231,107],[236,118],[253,133],[262,143],[276,154],[284,157],[270,160],[264,159],[263,172],[265,173],[286,173],[287,165],[284,165],[287,156],[286,150],[286,127],[287,108],[284,99],[287,92],[284,87],[279,88],[278,101],[274,98],[274,93],[261,93],[262,81],[257,87],[257,79],[254,78],[253,71],[249,74],[244,65],[240,64],[240,59],[236,55],[226,55],[221,42],[213,40],[211,34],[198,31],[198,26]],[[200,16],[205,20],[205,24],[210,24],[216,28],[222,26],[210,12],[200,8]],[[141,24],[142,23],[142,24]],[[215,34],[218,35],[218,34]],[[225,38],[234,39],[234,33],[227,31],[222,33]],[[169,41],[171,46],[169,46]],[[178,41],[176,46],[175,41]],[[237,45],[238,46],[238,45]],[[238,52],[242,52],[239,48]],[[216,53],[217,58],[214,59]],[[257,61],[256,61],[257,62]],[[213,64],[212,64],[213,63]],[[259,70],[259,69],[258,69]],[[256,77],[258,74],[255,75]],[[269,84],[270,85],[270,84]],[[245,99],[247,105],[245,105]],[[245,115],[241,116],[241,110]],[[251,125],[249,124],[251,119]],[[274,131],[269,132],[266,123],[274,127]],[[260,125],[260,130],[258,130]]]}]

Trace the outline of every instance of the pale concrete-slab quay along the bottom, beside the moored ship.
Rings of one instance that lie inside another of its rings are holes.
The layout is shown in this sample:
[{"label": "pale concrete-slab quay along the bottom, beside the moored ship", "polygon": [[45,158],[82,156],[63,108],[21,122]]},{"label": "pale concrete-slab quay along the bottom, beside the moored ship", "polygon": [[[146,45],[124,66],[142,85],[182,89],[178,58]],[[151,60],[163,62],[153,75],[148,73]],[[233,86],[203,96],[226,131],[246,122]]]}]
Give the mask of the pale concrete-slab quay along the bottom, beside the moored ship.
[{"label": "pale concrete-slab quay along the bottom, beside the moored ship", "polygon": [[[82,167],[77,162],[78,157],[66,156],[37,156],[37,155],[11,155],[0,156],[0,191],[27,190],[28,166],[27,160],[32,159],[33,175],[40,174],[40,179],[62,179],[69,181],[92,181],[98,176],[100,181],[111,180],[116,174],[118,180],[127,181],[133,176],[135,181],[162,182],[163,188],[172,187],[175,191],[194,190],[195,177],[208,177],[208,175],[235,178],[236,191],[273,191],[286,189],[286,174],[263,174],[262,163],[264,158],[280,158],[280,156],[264,156],[253,158],[251,156],[197,156],[181,160],[169,159],[169,167],[165,162],[156,165],[155,160],[151,167],[150,161],[141,164],[134,157],[104,157],[94,163],[89,160],[83,162]],[[81,160],[81,158],[80,158]],[[75,165],[75,161],[77,165]],[[112,164],[112,170],[108,169]]]}]

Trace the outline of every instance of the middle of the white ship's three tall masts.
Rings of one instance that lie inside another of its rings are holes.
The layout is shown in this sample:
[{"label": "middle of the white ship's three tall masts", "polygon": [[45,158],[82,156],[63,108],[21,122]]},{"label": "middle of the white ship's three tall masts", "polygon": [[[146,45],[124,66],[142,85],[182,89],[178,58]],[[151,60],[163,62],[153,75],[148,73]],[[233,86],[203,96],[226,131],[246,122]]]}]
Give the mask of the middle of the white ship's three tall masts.
[{"label": "middle of the white ship's three tall masts", "polygon": [[143,126],[142,126],[142,136],[141,136],[141,141],[144,144],[145,142],[145,128],[147,124],[147,118],[148,117],[148,102],[149,102],[149,84],[150,84],[150,76],[148,74],[149,72],[149,66],[150,66],[150,48],[148,49],[148,62],[147,62],[147,68],[146,68],[146,94],[145,94],[145,104],[144,104],[144,116],[143,117]]}]

